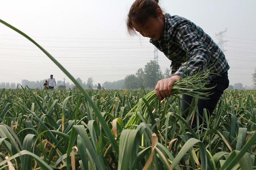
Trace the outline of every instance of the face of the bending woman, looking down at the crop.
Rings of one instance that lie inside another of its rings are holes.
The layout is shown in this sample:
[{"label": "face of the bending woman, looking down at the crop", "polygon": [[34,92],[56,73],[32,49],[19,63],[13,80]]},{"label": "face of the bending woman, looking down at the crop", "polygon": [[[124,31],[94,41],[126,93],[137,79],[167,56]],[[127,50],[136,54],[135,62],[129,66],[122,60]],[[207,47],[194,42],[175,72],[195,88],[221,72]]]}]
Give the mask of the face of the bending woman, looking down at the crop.
[{"label": "face of the bending woman, looking down at the crop", "polygon": [[158,40],[162,37],[162,33],[164,31],[164,16],[162,11],[158,14],[157,18],[150,17],[144,24],[132,22],[132,26],[143,37]]}]

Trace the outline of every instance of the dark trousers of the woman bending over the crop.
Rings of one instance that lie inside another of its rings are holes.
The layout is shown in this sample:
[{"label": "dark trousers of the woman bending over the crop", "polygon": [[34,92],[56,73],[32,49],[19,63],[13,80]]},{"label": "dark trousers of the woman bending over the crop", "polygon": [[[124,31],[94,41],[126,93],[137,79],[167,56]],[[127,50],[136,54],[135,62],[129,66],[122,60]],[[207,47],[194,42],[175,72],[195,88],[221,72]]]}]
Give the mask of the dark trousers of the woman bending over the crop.
[{"label": "dark trousers of the woman bending over the crop", "polygon": [[[207,112],[212,115],[213,110],[215,109],[216,105],[218,104],[218,101],[223,94],[224,90],[228,88],[229,80],[228,80],[228,72],[225,72],[224,74],[221,74],[220,76],[217,76],[210,82],[210,84],[207,84],[206,87],[213,87],[212,90],[204,91],[204,92],[210,92],[213,93],[209,96],[209,99],[198,99],[198,115],[199,115],[199,125],[202,125],[203,120],[203,111],[204,108],[206,108]],[[182,111],[186,110],[186,108],[190,107],[189,104],[191,104],[193,97],[188,95],[182,95]],[[187,116],[189,112],[189,109],[186,111],[185,115]],[[189,120],[188,124],[191,125],[192,128],[196,127],[196,113],[192,122],[192,119]]]}]

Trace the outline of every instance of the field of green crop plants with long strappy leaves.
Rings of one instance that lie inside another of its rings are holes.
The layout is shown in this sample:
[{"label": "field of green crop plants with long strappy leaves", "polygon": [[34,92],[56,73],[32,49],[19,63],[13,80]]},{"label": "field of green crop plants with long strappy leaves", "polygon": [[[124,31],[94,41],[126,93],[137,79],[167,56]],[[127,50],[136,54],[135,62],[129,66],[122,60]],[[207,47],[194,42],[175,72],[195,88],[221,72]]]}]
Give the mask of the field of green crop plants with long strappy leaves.
[{"label": "field of green crop plants with long strappy leaves", "polygon": [[[162,104],[157,100],[150,104],[143,98],[149,91],[85,91],[34,40],[8,23],[0,22],[32,41],[80,89],[1,90],[0,166],[141,170],[152,155],[150,170],[164,170],[169,164],[177,170],[255,168],[255,90],[224,92],[214,114],[203,115],[207,128],[197,125],[197,129],[192,129],[187,121],[195,114],[195,106],[191,106],[187,117],[182,117],[180,100],[176,97]],[[154,65],[154,61],[150,63]],[[145,74],[150,71],[150,63],[145,66]],[[158,69],[156,72],[160,73]],[[177,86],[173,90],[181,88]],[[137,105],[142,108],[143,104],[150,119],[145,120],[144,109],[140,109],[136,115],[142,123],[134,124],[134,130],[126,129],[133,115],[132,108]],[[157,140],[154,138],[152,142],[152,136],[157,136]]]}]

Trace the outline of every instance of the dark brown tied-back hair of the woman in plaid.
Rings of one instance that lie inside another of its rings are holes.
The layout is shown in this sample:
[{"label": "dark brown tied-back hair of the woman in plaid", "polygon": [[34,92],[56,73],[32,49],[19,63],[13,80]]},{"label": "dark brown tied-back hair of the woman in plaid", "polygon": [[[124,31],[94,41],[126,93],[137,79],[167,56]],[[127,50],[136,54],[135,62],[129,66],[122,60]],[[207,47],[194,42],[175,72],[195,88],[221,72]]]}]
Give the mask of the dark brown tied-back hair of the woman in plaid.
[{"label": "dark brown tied-back hair of the woman in plaid", "polygon": [[132,21],[143,25],[146,21],[148,21],[148,18],[157,18],[158,14],[156,10],[158,8],[160,8],[160,6],[158,5],[158,0],[136,0],[132,4],[128,14],[128,33],[136,34],[136,31],[132,26]]}]

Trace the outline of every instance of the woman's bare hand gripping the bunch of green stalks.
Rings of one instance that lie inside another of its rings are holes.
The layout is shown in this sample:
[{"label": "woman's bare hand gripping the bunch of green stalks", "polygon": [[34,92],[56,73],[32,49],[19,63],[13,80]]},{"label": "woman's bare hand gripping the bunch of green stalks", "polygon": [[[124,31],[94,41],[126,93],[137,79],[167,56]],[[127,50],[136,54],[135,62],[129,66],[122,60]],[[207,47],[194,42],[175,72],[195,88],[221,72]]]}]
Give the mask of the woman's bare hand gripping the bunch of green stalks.
[{"label": "woman's bare hand gripping the bunch of green stalks", "polygon": [[172,94],[172,85],[178,80],[180,80],[179,75],[174,75],[171,78],[159,80],[155,88],[156,96],[158,96],[160,100],[169,97]]}]

